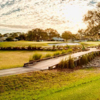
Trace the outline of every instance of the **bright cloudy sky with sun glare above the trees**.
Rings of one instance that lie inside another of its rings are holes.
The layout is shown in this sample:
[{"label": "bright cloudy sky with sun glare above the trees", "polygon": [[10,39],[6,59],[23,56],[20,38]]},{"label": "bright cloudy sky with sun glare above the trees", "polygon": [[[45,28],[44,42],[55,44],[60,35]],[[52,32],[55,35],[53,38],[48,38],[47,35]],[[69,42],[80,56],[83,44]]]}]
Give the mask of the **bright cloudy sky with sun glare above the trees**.
[{"label": "bright cloudy sky with sun glare above the trees", "polygon": [[53,28],[77,33],[99,0],[0,0],[0,33]]}]

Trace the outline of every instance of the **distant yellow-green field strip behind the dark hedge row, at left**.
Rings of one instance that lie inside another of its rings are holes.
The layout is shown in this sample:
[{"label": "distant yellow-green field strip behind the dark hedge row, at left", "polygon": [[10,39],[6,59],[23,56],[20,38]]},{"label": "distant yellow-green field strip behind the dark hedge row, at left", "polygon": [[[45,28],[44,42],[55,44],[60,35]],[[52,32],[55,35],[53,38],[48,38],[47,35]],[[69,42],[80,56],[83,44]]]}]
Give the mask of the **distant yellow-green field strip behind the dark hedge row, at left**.
[{"label": "distant yellow-green field strip behind the dark hedge row, at left", "polygon": [[48,46],[48,43],[61,43],[54,41],[47,42],[32,42],[32,41],[17,41],[17,42],[0,42],[0,47],[25,47],[25,46]]}]

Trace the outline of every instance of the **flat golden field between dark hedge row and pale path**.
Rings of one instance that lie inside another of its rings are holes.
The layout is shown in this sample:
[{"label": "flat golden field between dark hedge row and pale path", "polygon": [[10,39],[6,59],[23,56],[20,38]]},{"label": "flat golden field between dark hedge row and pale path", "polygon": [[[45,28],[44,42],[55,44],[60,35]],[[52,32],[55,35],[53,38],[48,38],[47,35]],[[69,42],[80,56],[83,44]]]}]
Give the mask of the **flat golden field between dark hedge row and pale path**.
[{"label": "flat golden field between dark hedge row and pale path", "polygon": [[35,53],[45,55],[54,51],[0,51],[0,69],[22,67]]}]

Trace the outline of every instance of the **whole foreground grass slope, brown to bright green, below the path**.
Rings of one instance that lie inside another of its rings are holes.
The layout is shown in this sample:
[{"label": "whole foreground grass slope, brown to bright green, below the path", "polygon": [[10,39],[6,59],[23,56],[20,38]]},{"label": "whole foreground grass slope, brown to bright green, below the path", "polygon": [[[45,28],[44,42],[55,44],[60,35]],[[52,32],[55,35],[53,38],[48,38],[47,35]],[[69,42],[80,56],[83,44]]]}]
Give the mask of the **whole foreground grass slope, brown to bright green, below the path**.
[{"label": "whole foreground grass slope, brown to bright green, below the path", "polygon": [[1,77],[0,100],[99,100],[99,83],[100,68]]}]

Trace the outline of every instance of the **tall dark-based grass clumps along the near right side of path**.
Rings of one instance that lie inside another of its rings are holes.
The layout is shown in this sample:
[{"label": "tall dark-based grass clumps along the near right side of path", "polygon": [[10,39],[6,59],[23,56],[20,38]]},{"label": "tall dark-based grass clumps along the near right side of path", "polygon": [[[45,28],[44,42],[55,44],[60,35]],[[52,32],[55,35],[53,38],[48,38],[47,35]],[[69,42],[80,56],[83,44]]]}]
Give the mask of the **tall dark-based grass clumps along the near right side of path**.
[{"label": "tall dark-based grass clumps along the near right side of path", "polygon": [[77,61],[74,60],[71,56],[69,59],[62,59],[56,68],[75,68],[77,66],[82,66],[87,64],[89,61],[93,60],[95,57],[99,56],[100,52],[92,52],[89,54],[82,55]]}]

